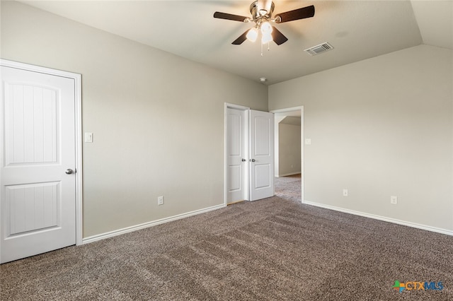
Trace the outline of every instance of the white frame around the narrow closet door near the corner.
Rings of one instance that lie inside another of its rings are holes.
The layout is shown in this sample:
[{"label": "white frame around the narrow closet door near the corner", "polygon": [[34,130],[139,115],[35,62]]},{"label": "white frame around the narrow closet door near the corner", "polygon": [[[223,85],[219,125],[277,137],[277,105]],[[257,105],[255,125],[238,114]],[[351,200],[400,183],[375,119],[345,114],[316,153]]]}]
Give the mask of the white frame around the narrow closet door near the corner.
[{"label": "white frame around the narrow closet door near the corner", "polygon": [[[236,109],[247,112],[250,110],[250,107],[244,107],[243,105],[234,105],[232,103],[225,102],[224,103],[224,206],[228,205],[228,109]],[[248,141],[248,114],[245,114],[246,120],[244,122],[244,131],[245,140]],[[245,146],[245,155],[246,155],[246,175],[248,179],[248,143]],[[246,182],[246,198],[244,201],[248,201],[249,193],[248,193],[248,181]]]}]

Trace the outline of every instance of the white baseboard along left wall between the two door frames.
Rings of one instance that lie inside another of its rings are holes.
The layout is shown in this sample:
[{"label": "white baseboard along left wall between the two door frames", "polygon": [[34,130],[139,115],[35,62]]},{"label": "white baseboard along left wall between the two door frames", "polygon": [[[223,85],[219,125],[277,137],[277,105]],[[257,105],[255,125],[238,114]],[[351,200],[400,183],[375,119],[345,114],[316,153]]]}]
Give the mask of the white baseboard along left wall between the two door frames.
[{"label": "white baseboard along left wall between the two door frames", "polygon": [[168,223],[168,222],[171,222],[173,220],[180,220],[181,218],[188,218],[189,216],[196,216],[197,214],[200,214],[200,213],[206,213],[206,212],[214,211],[214,210],[217,210],[217,209],[220,209],[220,208],[224,208],[224,207],[226,207],[224,204],[217,205],[217,206],[212,206],[212,207],[208,207],[208,208],[204,208],[204,209],[200,209],[200,210],[190,211],[190,212],[187,212],[187,213],[181,213],[181,214],[178,214],[177,216],[171,216],[171,217],[168,217],[168,218],[161,218],[160,220],[153,220],[153,221],[148,222],[148,223],[142,223],[142,224],[133,225],[133,226],[130,226],[130,227],[127,227],[127,228],[122,228],[122,229],[118,229],[118,230],[114,230],[114,231],[110,231],[110,232],[105,232],[105,233],[98,234],[98,235],[93,235],[93,236],[84,238],[82,240],[82,244],[88,244],[90,242],[96,242],[98,240],[104,240],[105,238],[114,237],[114,236],[117,236],[117,235],[122,235],[122,234],[125,234],[125,233],[128,233],[128,232],[133,232],[133,231],[141,230],[141,229],[144,229],[144,228],[149,228],[149,227],[152,227],[152,226],[155,226],[155,225],[161,225],[163,223]]}]

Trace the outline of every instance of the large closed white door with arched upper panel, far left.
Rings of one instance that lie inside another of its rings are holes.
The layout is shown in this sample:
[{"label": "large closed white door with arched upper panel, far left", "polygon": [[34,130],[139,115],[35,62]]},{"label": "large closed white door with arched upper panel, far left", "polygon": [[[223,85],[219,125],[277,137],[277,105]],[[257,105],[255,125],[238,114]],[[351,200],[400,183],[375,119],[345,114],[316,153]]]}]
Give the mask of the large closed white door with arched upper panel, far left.
[{"label": "large closed white door with arched upper panel, far left", "polygon": [[74,87],[1,66],[0,263],[76,243]]}]

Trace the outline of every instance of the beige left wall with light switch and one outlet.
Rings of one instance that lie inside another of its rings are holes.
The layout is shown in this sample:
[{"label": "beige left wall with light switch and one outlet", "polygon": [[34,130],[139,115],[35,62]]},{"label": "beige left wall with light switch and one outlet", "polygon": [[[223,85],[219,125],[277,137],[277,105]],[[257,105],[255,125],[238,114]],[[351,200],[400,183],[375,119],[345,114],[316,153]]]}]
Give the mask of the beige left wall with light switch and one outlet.
[{"label": "beige left wall with light switch and one outlet", "polygon": [[260,83],[17,2],[1,58],[82,75],[84,237],[222,204],[224,102],[268,109]]}]

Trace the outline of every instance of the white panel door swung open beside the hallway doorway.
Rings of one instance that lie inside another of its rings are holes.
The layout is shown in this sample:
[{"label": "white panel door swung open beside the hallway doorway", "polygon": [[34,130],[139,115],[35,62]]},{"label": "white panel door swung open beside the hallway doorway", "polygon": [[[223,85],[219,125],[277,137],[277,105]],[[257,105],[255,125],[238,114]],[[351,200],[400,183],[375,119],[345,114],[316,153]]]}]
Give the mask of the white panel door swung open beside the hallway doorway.
[{"label": "white panel door swung open beside the hallway doorway", "polygon": [[250,201],[274,196],[274,114],[250,110]]}]

